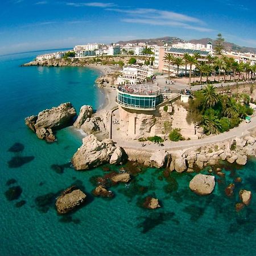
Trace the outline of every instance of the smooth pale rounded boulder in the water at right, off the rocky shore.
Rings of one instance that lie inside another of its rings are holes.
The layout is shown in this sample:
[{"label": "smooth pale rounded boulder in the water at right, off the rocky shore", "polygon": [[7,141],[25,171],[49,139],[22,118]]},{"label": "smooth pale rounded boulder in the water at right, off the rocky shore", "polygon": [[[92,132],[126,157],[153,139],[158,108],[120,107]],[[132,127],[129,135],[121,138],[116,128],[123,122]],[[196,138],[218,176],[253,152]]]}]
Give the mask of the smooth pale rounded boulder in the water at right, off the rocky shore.
[{"label": "smooth pale rounded boulder in the water at right, off the rocky shore", "polygon": [[189,182],[189,188],[197,195],[209,195],[212,193],[215,186],[214,176],[197,174]]}]

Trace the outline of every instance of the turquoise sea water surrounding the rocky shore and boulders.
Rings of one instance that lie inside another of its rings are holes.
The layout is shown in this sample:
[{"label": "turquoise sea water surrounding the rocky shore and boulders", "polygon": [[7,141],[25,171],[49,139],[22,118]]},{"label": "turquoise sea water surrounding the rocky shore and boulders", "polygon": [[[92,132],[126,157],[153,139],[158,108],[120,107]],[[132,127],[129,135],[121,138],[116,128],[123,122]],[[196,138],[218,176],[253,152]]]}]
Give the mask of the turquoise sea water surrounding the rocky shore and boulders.
[{"label": "turquoise sea water surrounding the rocky shore and boulders", "polygon": [[[81,138],[68,128],[57,133],[56,143],[47,144],[28,130],[24,117],[67,101],[77,111],[84,104],[99,108],[104,97],[94,85],[98,72],[18,67],[38,54],[0,57],[0,255],[256,254],[256,200],[253,197],[250,206],[239,213],[234,208],[241,188],[256,194],[253,159],[243,168],[226,167],[225,179],[217,177],[213,194],[206,197],[188,188],[195,174],[172,173],[166,178],[163,170],[154,168],[142,169],[129,185],[112,187],[115,197],[111,200],[90,196],[95,187],[93,177],[108,172],[70,168],[69,160]],[[8,151],[16,142],[24,149]],[[17,159],[27,163],[18,167]],[[62,166],[63,173],[54,171],[52,164]],[[129,168],[138,171],[135,166]],[[236,196],[226,197],[225,186],[238,176],[242,183],[236,184]],[[16,183],[8,186],[10,179]],[[84,187],[88,203],[68,217],[58,216],[55,197],[73,183]],[[18,200],[8,201],[5,191],[16,185],[22,194]],[[163,207],[143,209],[141,202],[148,195],[158,197]],[[20,200],[26,204],[17,208]]]}]

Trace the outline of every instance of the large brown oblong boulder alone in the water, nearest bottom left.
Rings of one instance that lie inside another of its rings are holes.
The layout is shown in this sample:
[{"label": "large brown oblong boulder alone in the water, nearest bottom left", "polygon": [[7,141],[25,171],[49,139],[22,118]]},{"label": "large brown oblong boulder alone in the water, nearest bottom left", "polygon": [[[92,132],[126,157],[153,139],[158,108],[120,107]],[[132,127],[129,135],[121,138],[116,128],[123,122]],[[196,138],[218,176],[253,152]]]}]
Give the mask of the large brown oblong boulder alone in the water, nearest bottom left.
[{"label": "large brown oblong boulder alone in the water, nearest bottom left", "polygon": [[86,195],[80,189],[71,187],[66,189],[56,200],[56,209],[59,214],[70,212],[84,203]]}]

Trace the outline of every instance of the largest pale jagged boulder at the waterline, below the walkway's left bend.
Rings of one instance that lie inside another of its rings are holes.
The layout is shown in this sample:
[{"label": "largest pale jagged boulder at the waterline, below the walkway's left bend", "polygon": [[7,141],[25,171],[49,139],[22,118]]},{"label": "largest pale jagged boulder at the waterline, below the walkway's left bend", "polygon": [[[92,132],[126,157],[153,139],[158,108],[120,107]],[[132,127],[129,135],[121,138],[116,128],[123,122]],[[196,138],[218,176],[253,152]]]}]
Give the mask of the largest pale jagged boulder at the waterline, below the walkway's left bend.
[{"label": "largest pale jagged boulder at the waterline, below the walkway's left bend", "polygon": [[111,139],[98,141],[95,135],[90,134],[82,139],[82,146],[73,155],[72,163],[76,170],[88,170],[109,163],[114,151],[115,146]]}]

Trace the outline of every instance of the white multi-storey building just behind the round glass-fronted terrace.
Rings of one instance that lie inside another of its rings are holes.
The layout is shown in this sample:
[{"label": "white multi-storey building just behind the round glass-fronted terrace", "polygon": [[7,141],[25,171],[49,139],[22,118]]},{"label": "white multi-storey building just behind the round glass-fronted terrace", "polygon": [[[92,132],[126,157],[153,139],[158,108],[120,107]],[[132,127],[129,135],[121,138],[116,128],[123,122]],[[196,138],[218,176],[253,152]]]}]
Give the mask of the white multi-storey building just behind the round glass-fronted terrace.
[{"label": "white multi-storey building just behind the round glass-fronted terrace", "polygon": [[118,84],[141,84],[153,75],[154,69],[148,66],[131,65],[123,67],[122,75],[117,78]]}]

